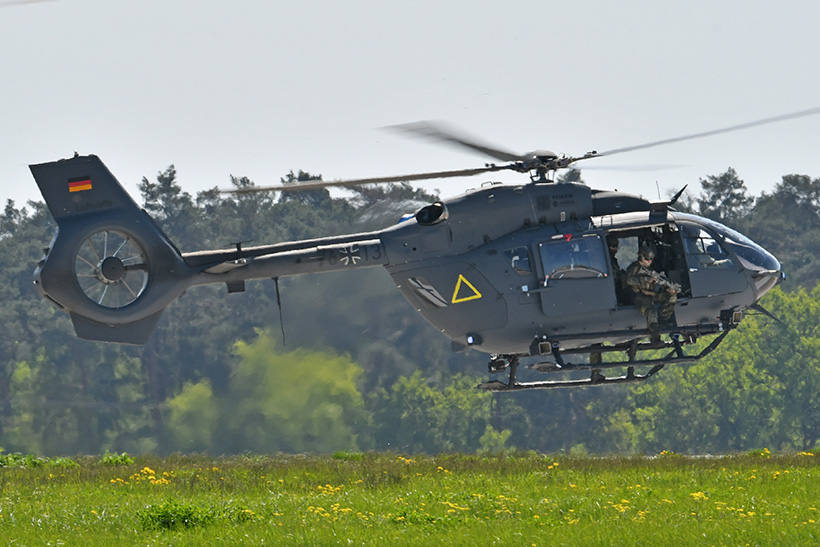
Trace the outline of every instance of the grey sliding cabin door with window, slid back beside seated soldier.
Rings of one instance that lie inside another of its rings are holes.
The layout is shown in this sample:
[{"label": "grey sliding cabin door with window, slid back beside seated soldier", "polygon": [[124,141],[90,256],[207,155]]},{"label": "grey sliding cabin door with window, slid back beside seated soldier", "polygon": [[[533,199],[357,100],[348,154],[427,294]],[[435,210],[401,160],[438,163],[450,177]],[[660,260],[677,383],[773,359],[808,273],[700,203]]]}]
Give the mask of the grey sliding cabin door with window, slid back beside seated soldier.
[{"label": "grey sliding cabin door with window, slid back beside seated soldier", "polygon": [[536,244],[541,308],[549,317],[615,308],[608,253],[597,234],[562,235]]}]

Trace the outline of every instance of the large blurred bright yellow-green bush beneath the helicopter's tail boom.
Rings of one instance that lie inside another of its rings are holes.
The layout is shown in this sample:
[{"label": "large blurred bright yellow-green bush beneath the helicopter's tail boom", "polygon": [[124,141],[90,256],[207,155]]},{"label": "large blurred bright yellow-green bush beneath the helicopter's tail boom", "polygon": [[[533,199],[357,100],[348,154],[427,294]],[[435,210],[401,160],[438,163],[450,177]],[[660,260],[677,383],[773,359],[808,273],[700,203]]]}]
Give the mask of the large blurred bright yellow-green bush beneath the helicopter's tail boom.
[{"label": "large blurred bright yellow-green bush beneath the helicopter's tail boom", "polygon": [[277,351],[270,332],[237,342],[221,395],[221,442],[229,450],[332,452],[356,449],[365,430],[356,382],[361,368],[328,352]]}]

